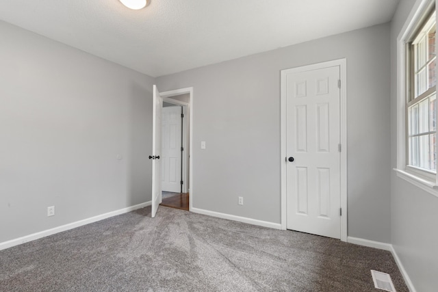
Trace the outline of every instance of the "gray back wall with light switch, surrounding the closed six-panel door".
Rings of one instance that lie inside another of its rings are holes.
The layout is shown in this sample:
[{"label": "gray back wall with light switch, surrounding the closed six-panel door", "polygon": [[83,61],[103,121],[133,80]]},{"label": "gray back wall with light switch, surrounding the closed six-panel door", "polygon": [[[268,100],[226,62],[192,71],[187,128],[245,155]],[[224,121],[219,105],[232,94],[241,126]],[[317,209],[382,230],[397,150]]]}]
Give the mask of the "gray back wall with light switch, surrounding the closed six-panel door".
[{"label": "gray back wall with light switch, surrounding the closed six-panel door", "polygon": [[386,24],[157,78],[194,87],[193,206],[280,223],[280,70],[346,57],[348,235],[389,242],[389,56]]}]

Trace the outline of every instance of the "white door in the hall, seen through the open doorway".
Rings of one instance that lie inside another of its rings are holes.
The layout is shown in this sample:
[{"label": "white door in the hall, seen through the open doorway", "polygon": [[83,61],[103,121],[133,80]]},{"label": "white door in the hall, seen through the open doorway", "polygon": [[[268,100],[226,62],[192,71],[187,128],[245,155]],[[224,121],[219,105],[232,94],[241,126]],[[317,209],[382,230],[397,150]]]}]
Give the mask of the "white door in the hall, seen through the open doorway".
[{"label": "white door in the hall, seen through the open doorway", "polygon": [[162,110],[162,190],[181,191],[181,107]]}]

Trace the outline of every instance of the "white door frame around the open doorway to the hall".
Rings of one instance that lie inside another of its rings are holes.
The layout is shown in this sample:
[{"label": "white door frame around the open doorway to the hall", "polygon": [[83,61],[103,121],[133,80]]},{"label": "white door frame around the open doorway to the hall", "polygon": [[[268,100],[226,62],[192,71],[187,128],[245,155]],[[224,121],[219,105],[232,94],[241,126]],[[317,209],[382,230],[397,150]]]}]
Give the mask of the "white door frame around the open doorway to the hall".
[{"label": "white door frame around the open doorway to the hall", "polygon": [[[177,96],[181,94],[189,94],[190,95],[190,101],[189,103],[185,103],[183,101],[177,101],[176,99],[171,98],[172,96]],[[189,199],[189,211],[192,211],[193,207],[193,88],[181,88],[177,90],[169,90],[165,92],[160,92],[160,95],[163,98],[163,101],[166,103],[172,103],[173,105],[181,105],[183,107],[184,115],[189,115],[189,121],[190,121],[190,127],[189,127],[189,152],[185,151],[185,155],[183,155],[183,191],[187,192],[188,190],[188,184],[186,183],[189,181],[190,185],[190,199]],[[186,119],[183,120],[183,129],[187,129],[187,122]],[[187,146],[187,135],[183,135],[183,147]],[[185,148],[186,149],[186,148]],[[187,173],[187,165],[189,165],[189,174]],[[189,180],[187,180],[187,175],[189,176]]]}]

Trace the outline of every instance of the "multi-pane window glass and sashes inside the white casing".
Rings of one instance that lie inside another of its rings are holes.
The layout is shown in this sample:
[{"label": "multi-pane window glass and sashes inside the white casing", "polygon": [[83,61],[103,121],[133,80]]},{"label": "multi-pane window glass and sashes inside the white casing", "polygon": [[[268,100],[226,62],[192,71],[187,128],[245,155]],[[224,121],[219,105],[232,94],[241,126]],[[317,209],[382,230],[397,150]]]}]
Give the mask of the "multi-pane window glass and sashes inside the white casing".
[{"label": "multi-pane window glass and sashes inside the white casing", "polygon": [[406,49],[407,168],[424,174],[437,173],[437,24],[435,8],[432,11]]}]

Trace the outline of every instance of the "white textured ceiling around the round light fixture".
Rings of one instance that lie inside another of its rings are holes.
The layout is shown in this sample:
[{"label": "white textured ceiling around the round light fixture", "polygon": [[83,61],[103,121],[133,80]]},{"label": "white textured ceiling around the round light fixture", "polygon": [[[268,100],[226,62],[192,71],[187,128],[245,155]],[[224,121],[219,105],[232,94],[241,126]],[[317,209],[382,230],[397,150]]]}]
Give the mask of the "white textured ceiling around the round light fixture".
[{"label": "white textured ceiling around the round light fixture", "polygon": [[0,0],[0,19],[152,77],[386,23],[398,0]]}]

